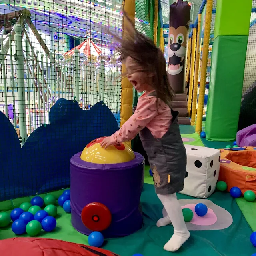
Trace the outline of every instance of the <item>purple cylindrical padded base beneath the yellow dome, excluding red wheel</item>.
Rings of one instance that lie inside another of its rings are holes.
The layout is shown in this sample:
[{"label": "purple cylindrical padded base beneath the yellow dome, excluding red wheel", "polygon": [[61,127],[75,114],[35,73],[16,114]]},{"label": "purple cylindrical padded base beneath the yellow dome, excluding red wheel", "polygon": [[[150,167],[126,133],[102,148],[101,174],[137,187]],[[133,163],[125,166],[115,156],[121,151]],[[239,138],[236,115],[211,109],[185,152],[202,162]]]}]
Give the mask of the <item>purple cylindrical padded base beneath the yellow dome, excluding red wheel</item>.
[{"label": "purple cylindrical padded base beneath the yellow dome, excluding red wheel", "polygon": [[81,152],[71,158],[71,222],[78,232],[92,232],[81,220],[82,209],[92,202],[104,204],[112,214],[111,225],[102,231],[104,238],[127,236],[142,227],[144,158],[134,154],[134,160],[121,164],[85,162],[80,158]]}]

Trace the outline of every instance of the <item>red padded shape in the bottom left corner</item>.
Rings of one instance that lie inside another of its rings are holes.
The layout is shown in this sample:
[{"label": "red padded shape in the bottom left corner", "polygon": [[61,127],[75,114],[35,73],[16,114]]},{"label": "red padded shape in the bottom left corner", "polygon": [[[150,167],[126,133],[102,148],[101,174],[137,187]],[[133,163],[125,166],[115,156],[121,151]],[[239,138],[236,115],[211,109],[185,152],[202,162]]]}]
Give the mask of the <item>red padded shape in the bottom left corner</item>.
[{"label": "red padded shape in the bottom left corner", "polygon": [[10,238],[0,240],[1,256],[118,256],[114,252],[47,238]]}]

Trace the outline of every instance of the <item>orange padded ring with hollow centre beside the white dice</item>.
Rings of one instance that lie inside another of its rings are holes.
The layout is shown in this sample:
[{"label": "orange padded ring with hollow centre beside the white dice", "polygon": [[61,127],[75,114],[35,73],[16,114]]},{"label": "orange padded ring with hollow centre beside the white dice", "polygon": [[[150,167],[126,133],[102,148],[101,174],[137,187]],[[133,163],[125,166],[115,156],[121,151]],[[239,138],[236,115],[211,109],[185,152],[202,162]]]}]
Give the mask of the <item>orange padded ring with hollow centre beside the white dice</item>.
[{"label": "orange padded ring with hollow centre beside the white dice", "polygon": [[256,193],[256,148],[247,147],[242,151],[220,150],[219,180],[225,181],[228,191],[238,187]]}]

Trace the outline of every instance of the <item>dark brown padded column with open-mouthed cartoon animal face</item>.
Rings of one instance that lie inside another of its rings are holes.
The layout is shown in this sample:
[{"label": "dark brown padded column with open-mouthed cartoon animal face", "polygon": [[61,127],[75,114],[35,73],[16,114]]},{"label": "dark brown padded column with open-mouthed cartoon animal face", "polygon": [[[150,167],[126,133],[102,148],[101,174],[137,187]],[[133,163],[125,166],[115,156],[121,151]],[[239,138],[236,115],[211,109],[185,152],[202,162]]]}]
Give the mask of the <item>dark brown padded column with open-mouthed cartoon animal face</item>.
[{"label": "dark brown padded column with open-mouthed cartoon animal face", "polygon": [[190,22],[190,5],[178,0],[170,5],[168,38],[168,79],[175,92],[185,90],[186,46]]}]

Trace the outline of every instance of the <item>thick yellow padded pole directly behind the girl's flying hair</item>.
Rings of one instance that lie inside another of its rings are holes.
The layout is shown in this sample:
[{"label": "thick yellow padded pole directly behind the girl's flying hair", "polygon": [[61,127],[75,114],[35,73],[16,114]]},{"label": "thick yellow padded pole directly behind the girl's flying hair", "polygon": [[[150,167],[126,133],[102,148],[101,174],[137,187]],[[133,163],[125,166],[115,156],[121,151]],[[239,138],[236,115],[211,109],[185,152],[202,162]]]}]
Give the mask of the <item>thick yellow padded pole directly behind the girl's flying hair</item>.
[{"label": "thick yellow padded pole directly behind the girl's flying hair", "polygon": [[[128,15],[133,25],[135,22],[135,0],[125,0],[123,4],[124,12]],[[125,37],[128,32],[126,28],[129,27],[129,22],[123,18],[123,34]],[[122,64],[122,73],[126,72],[124,64]],[[132,116],[133,90],[132,84],[127,78],[122,79],[121,82],[121,109],[120,109],[120,126],[122,126]],[[130,143],[129,143],[130,144]]]}]

